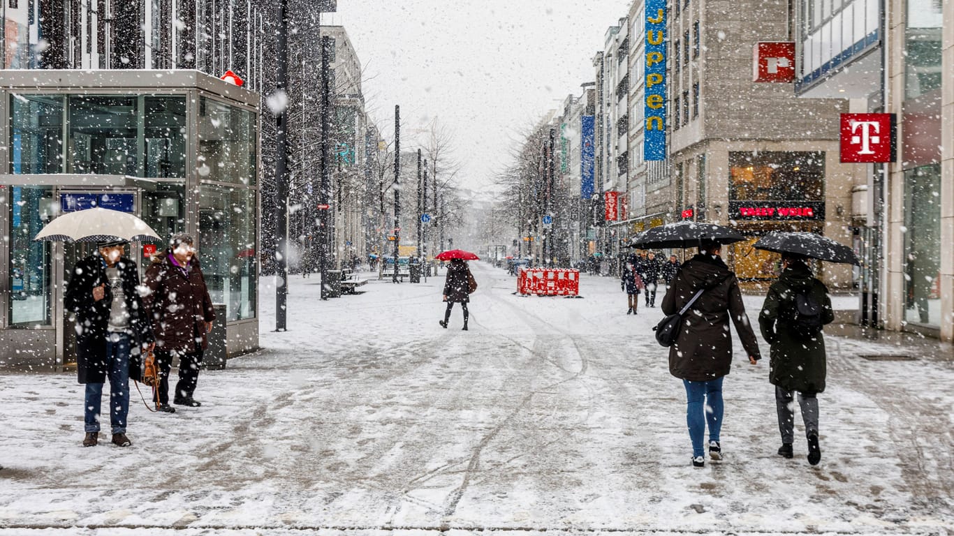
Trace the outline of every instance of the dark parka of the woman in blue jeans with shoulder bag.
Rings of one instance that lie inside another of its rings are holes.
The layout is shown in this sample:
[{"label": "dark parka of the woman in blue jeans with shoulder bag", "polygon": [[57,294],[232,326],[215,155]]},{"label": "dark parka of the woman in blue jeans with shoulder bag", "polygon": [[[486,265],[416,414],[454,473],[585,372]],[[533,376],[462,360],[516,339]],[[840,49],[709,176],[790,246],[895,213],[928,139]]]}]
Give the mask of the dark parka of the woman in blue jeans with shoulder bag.
[{"label": "dark parka of the woman in blue jeans with shoulder bag", "polygon": [[683,316],[679,337],[669,351],[670,373],[689,381],[715,380],[729,374],[732,365],[730,318],[746,354],[761,358],[736,275],[721,258],[696,255],[683,263],[662,300],[663,313],[678,312],[700,288],[707,290]]}]

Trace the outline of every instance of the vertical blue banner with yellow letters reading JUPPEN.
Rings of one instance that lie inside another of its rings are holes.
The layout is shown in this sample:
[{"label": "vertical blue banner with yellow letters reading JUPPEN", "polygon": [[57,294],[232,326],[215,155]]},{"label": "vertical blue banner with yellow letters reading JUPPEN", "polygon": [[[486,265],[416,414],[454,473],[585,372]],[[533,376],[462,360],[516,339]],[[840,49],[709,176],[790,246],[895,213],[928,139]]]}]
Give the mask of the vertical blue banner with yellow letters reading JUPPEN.
[{"label": "vertical blue banner with yellow letters reading JUPPEN", "polygon": [[[646,0],[643,158],[666,159],[666,0]],[[676,119],[678,120],[678,119]]]}]

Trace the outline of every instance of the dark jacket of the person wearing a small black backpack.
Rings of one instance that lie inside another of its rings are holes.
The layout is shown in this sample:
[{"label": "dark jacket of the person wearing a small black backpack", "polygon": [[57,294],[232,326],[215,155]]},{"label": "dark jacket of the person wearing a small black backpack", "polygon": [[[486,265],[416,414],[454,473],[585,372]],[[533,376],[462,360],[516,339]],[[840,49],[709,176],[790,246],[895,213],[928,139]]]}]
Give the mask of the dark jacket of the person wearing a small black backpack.
[{"label": "dark jacket of the person wearing a small black backpack", "polygon": [[772,345],[769,381],[789,391],[820,393],[825,390],[825,340],[819,331],[814,337],[798,335],[789,322],[795,296],[807,292],[821,305],[821,321],[835,320],[832,302],[824,283],[812,277],[803,262],[793,262],[770,288],[758,315],[762,338]]}]

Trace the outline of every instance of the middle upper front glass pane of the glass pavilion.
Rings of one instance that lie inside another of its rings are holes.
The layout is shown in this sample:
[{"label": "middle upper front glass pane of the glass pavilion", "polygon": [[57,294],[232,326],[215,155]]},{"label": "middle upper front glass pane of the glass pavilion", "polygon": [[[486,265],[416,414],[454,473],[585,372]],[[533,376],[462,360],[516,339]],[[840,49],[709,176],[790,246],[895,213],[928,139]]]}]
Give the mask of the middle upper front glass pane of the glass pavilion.
[{"label": "middle upper front glass pane of the glass pavilion", "polygon": [[133,175],[136,170],[135,96],[69,96],[68,172]]}]

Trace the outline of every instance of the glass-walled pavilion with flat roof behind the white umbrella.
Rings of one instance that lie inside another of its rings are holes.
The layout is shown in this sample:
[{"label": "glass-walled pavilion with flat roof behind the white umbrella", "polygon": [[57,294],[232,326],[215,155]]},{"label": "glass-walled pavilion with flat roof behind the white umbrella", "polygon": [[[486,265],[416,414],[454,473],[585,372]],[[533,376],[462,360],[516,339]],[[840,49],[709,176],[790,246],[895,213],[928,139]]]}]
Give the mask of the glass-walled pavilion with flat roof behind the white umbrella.
[{"label": "glass-walled pavilion with flat roof behind the white umbrella", "polygon": [[229,356],[259,342],[259,95],[196,71],[3,71],[0,366],[73,357],[63,289],[88,244],[36,242],[53,217],[93,206],[142,217],[162,242],[197,237]]}]

